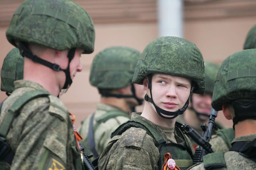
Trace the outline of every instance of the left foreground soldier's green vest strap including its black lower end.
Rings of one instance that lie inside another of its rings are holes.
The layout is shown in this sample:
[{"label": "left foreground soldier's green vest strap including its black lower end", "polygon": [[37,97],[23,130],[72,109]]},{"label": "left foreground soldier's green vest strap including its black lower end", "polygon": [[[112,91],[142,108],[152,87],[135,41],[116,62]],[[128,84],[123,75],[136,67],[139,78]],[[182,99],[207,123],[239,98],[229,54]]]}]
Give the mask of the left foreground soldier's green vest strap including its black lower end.
[{"label": "left foreground soldier's green vest strap including its black lower end", "polygon": [[3,122],[0,125],[0,160],[4,160],[11,165],[14,157],[14,153],[9,144],[5,142],[13,118],[17,116],[19,110],[30,100],[48,95],[50,95],[50,93],[40,90],[26,92],[8,109],[5,117],[3,118]]}]

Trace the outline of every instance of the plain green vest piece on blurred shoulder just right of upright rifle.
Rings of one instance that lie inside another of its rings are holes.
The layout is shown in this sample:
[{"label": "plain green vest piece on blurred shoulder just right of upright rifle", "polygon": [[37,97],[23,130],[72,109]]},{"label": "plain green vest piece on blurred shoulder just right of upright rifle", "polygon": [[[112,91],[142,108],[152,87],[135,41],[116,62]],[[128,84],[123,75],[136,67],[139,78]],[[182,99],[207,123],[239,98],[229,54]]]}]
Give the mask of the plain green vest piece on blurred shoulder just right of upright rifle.
[{"label": "plain green vest piece on blurred shoulder just right of upright rifle", "polygon": [[216,134],[221,136],[228,148],[231,148],[231,142],[235,138],[235,131],[233,128],[223,128],[216,131]]}]

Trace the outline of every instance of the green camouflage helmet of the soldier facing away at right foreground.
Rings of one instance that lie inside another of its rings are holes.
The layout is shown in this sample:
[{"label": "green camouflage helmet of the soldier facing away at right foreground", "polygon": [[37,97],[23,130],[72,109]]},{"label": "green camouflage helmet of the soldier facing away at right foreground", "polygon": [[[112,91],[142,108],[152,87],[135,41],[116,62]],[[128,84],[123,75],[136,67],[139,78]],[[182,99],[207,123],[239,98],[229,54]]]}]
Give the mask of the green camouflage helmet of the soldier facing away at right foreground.
[{"label": "green camouflage helmet of the soldier facing away at right foreground", "polygon": [[216,75],[212,107],[222,110],[222,104],[237,99],[256,99],[256,49],[242,50],[226,58]]}]

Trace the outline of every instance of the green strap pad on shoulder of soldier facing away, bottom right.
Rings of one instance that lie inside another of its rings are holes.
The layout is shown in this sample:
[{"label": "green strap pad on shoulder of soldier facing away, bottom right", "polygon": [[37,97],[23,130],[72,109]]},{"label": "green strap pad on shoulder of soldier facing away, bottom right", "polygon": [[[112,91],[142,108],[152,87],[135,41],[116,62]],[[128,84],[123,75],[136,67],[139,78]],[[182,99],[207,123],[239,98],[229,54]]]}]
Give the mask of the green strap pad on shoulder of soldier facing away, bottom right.
[{"label": "green strap pad on shoulder of soldier facing away, bottom right", "polygon": [[221,168],[219,170],[227,169],[224,159],[224,152],[215,152],[207,154],[203,157],[204,168],[210,170],[213,168]]}]

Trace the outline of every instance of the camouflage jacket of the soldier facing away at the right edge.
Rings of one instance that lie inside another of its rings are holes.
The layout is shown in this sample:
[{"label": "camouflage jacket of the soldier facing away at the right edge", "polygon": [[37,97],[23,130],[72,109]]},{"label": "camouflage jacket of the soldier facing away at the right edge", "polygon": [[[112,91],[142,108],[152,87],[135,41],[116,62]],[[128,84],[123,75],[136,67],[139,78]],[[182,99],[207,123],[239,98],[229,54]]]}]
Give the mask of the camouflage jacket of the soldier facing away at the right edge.
[{"label": "camouflage jacket of the soldier facing away at the right edge", "polygon": [[[248,136],[240,136],[235,138],[232,143],[234,142],[251,142],[256,138],[256,134],[248,135]],[[227,170],[254,170],[256,169],[256,163],[248,159],[242,155],[240,155],[236,151],[228,151],[224,153],[224,159],[226,162]],[[200,163],[193,165],[188,170],[205,170],[204,163]]]}]

